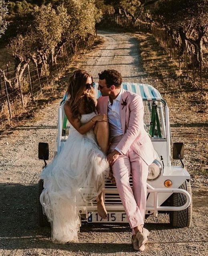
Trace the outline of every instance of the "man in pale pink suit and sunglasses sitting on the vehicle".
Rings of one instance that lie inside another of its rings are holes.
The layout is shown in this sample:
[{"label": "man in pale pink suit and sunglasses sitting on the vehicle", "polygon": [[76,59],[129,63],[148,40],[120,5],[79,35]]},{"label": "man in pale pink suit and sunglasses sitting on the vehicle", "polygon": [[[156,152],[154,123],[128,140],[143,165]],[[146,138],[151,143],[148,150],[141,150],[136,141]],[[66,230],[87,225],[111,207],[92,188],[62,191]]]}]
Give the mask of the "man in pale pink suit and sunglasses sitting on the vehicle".
[{"label": "man in pale pink suit and sunglasses sitting on the vehicle", "polygon": [[[145,249],[149,231],[143,228],[148,165],[154,158],[153,145],[144,129],[142,98],[121,88],[122,77],[116,70],[99,74],[99,113],[108,116],[110,145],[107,160],[112,168],[119,196],[132,228],[131,242],[137,251]],[[132,174],[133,190],[129,184]]]}]

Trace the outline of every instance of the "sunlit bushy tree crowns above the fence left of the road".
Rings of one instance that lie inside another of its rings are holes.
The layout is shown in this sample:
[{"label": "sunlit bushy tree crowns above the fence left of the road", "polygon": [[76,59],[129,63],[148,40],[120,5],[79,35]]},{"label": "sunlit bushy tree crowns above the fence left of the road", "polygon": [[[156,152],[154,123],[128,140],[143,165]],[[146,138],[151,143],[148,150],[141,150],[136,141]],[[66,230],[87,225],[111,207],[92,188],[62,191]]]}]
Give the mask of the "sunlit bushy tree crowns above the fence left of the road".
[{"label": "sunlit bushy tree crowns above the fence left of the road", "polygon": [[100,16],[95,0],[54,0],[53,5],[36,5],[17,16],[18,35],[8,47],[19,62],[30,58],[41,64],[52,49],[57,56],[70,38],[94,33]]}]

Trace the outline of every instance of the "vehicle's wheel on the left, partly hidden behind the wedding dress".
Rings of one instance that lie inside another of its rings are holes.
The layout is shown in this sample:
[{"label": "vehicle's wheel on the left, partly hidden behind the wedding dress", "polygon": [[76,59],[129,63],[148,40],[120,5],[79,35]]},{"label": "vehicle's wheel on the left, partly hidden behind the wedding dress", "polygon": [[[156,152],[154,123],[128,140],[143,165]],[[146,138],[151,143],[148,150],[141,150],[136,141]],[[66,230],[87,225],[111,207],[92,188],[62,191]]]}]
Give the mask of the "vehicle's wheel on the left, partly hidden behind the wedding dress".
[{"label": "vehicle's wheel on the left, partly hidden behind the wedding dress", "polygon": [[39,180],[38,182],[38,196],[37,196],[37,215],[38,215],[38,224],[41,227],[50,226],[46,215],[42,212],[42,205],[40,203],[40,194],[43,190],[43,180]]}]

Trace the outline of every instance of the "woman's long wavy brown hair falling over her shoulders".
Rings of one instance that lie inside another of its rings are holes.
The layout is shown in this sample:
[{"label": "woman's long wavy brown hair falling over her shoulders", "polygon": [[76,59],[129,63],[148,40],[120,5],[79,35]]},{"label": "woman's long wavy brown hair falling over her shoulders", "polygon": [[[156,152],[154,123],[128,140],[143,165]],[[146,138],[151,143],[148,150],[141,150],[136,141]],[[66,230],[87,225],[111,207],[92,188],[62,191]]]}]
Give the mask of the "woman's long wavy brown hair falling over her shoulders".
[{"label": "woman's long wavy brown hair falling over her shoulders", "polygon": [[72,111],[73,118],[81,118],[80,106],[82,98],[84,99],[84,109],[86,114],[95,111],[95,91],[92,89],[90,95],[83,96],[83,92],[86,90],[87,78],[93,77],[85,70],[75,70],[69,78],[69,85],[67,89],[67,95],[69,100],[69,107]]}]

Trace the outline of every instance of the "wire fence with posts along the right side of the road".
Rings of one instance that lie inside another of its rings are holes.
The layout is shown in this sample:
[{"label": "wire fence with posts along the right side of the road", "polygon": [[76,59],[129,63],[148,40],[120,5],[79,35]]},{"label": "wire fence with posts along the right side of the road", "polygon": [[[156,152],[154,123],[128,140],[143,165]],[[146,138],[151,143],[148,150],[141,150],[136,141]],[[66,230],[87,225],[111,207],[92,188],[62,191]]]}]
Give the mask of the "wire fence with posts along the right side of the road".
[{"label": "wire fence with posts along the right side of the road", "polygon": [[[139,31],[142,33],[151,33],[153,37],[160,43],[166,53],[170,55],[170,59],[174,59],[179,70],[182,70],[186,76],[191,77],[193,82],[199,81],[201,88],[203,86],[203,78],[208,75],[206,62],[202,58],[198,58],[198,66],[196,66],[196,52],[193,44],[186,41],[182,50],[182,42],[179,38],[174,38],[166,29],[161,28],[153,23],[143,23],[137,21],[135,24],[132,20],[125,16],[115,14],[109,11],[106,14],[106,19],[109,22],[118,25],[119,27]],[[202,53],[208,55],[208,37],[205,35],[202,39]]]}]

